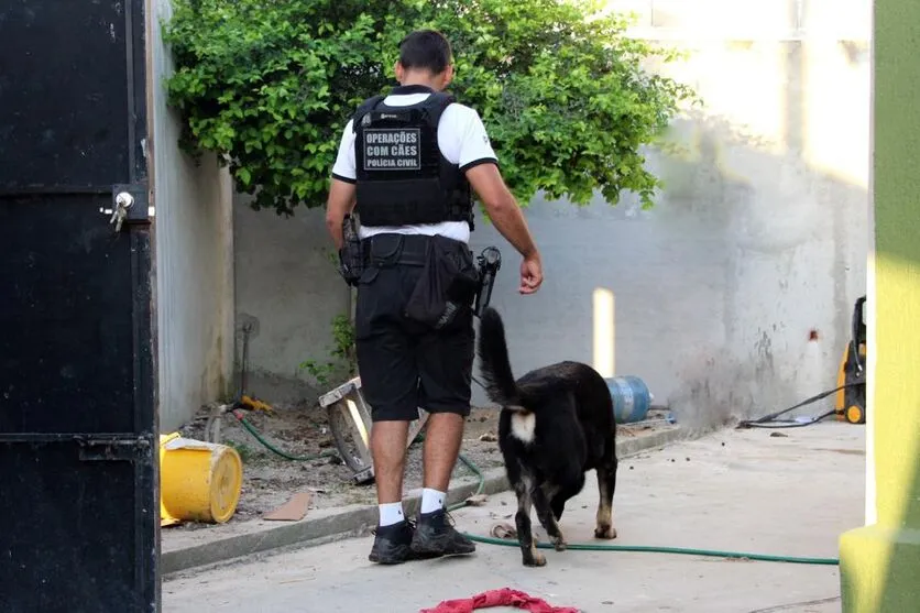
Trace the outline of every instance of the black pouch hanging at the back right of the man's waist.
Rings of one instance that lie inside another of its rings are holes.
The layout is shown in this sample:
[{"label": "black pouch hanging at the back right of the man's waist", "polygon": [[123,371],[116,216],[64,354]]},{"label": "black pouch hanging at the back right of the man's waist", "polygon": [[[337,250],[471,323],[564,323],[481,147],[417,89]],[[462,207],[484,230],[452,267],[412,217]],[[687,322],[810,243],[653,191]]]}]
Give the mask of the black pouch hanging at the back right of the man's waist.
[{"label": "black pouch hanging at the back right of the man's waist", "polygon": [[406,304],[406,317],[436,330],[448,327],[461,309],[472,307],[479,274],[462,243],[431,237],[425,269]]}]

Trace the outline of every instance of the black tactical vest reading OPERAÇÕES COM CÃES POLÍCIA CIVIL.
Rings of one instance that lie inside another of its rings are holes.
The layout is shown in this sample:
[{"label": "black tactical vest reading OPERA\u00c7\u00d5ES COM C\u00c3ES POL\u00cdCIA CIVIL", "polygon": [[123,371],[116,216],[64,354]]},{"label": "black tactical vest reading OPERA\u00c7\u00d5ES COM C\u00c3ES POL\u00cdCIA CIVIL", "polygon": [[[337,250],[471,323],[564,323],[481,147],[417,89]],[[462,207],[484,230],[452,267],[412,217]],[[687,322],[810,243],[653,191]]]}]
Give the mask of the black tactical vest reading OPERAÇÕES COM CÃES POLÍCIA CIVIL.
[{"label": "black tactical vest reading OPERA\u00c7\u00d5ES COM C\u00c3ES POL\u00cdCIA CIVIL", "polygon": [[409,107],[388,107],[383,100],[375,96],[354,113],[361,225],[467,221],[472,229],[470,184],[438,147],[438,122],[454,98],[434,92]]}]

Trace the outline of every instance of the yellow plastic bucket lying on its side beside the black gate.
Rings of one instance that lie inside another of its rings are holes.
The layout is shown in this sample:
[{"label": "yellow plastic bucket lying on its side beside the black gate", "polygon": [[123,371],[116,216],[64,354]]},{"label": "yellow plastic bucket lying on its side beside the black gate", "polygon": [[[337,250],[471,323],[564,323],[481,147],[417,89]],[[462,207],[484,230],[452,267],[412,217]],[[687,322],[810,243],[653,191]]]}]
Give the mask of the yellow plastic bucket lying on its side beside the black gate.
[{"label": "yellow plastic bucket lying on its side beside the black gate", "polygon": [[223,524],[237,512],[243,462],[232,447],[160,436],[160,524]]}]

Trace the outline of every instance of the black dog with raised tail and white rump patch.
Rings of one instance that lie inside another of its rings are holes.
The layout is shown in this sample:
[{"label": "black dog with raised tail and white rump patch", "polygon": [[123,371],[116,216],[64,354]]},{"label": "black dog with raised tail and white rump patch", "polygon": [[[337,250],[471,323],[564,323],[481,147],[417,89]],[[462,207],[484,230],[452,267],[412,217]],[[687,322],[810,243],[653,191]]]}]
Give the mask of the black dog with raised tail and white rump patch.
[{"label": "black dog with raised tail and white rump patch", "polygon": [[515,381],[499,313],[486,309],[479,331],[479,357],[489,398],[502,406],[499,445],[508,482],[517,494],[517,540],[525,566],[544,566],[530,532],[530,506],[552,539],[566,549],[559,528],[566,502],[598,472],[601,501],[596,538],[616,538],[612,524],[616,488],[616,422],[603,377],[580,362],[560,362]]}]

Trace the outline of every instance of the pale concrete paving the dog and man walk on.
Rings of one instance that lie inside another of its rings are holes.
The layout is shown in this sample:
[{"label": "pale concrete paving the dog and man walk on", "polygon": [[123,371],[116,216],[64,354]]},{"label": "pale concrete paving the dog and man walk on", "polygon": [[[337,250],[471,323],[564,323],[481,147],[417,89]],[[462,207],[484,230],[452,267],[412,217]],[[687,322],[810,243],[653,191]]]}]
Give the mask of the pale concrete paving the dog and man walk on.
[{"label": "pale concrete paving the dog and man walk on", "polygon": [[[771,434],[723,431],[623,461],[613,543],[835,558],[839,535],[863,524],[865,429],[824,423]],[[593,474],[588,483],[562,519],[570,543],[596,543]],[[488,535],[514,508],[504,493],[453,515],[459,528]],[[163,611],[417,612],[504,587],[587,613],[841,606],[835,566],[570,550],[546,551],[548,565],[530,569],[516,548],[479,545],[466,559],[383,568],[366,559],[371,538],[175,576],[164,581]]]}]

